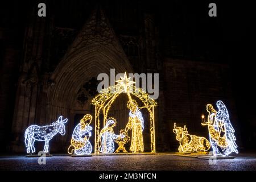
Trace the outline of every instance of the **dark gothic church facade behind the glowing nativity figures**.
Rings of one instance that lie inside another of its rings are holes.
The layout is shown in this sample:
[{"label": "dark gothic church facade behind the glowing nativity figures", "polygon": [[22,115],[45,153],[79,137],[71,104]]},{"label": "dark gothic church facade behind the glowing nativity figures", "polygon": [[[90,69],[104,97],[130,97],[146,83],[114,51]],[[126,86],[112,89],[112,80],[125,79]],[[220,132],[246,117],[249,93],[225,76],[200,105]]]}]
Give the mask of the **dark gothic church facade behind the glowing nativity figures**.
[{"label": "dark gothic church facade behind the glowing nativity figures", "polygon": [[[107,3],[89,9],[86,2],[77,1],[71,3],[70,12],[65,11],[65,15],[61,14],[66,10],[61,5],[53,13],[55,3],[52,2],[46,18],[36,16],[36,6],[29,6],[30,13],[22,29],[23,40],[20,40],[22,48],[3,45],[4,39],[12,38],[3,34],[5,28],[0,30],[1,82],[9,83],[1,86],[1,140],[7,146],[3,151],[24,152],[26,128],[47,125],[59,115],[69,120],[67,133],[51,141],[55,146],[51,151],[67,151],[79,119],[84,114],[93,115],[91,101],[97,94],[98,74],[109,74],[110,69],[116,73],[159,73],[156,151],[177,148],[172,133],[174,122],[187,125],[191,133],[208,137],[207,129],[201,127],[201,114],[207,114],[206,105],[217,100],[227,103],[236,126],[229,65],[204,61],[211,59],[210,56],[197,61],[193,56],[186,56],[189,53],[181,49],[187,48],[180,48],[175,37],[177,30],[168,29],[175,25],[172,14],[170,23],[163,23],[162,14],[147,10],[139,2],[135,9],[129,9],[129,2],[125,2],[116,3],[115,11],[110,11]],[[69,13],[72,14],[66,18]],[[72,24],[72,21],[79,23]],[[129,110],[123,104],[125,100],[126,97],[121,97],[110,111],[120,121],[117,129],[127,123]],[[239,143],[240,131],[236,131]],[[5,135],[10,139],[4,139]]]}]

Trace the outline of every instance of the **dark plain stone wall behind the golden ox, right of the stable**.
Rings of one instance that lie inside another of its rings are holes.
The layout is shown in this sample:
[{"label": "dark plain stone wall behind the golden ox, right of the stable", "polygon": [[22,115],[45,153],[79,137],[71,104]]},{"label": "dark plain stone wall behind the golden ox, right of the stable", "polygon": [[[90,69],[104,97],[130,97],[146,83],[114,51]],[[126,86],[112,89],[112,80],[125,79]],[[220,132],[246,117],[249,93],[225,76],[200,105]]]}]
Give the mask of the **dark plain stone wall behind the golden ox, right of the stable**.
[{"label": "dark plain stone wall behind the golden ox, right of the stable", "polygon": [[[228,108],[230,121],[236,130],[238,146],[241,146],[235,102],[230,80],[230,69],[225,64],[202,63],[189,60],[164,59],[164,115],[166,127],[160,130],[166,148],[177,150],[178,141],[172,133],[174,122],[187,126],[189,134],[208,138],[207,127],[201,126],[201,114],[208,115],[206,105],[222,100]],[[161,150],[161,148],[159,148]]]}]

